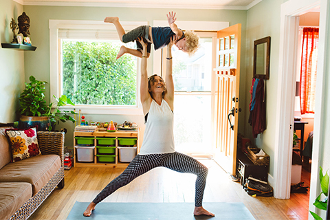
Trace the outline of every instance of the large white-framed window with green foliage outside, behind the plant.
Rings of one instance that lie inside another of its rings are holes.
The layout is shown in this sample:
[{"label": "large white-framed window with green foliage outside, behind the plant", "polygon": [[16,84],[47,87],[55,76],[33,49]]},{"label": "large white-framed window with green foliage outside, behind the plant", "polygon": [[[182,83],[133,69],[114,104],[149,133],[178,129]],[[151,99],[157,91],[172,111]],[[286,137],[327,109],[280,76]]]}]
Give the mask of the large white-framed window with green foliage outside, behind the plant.
[{"label": "large white-framed window with green foliage outside, behind the plant", "polygon": [[[129,31],[146,23],[122,25]],[[50,20],[51,96],[65,94],[85,113],[142,114],[139,60],[116,59],[121,45],[109,23]]]}]

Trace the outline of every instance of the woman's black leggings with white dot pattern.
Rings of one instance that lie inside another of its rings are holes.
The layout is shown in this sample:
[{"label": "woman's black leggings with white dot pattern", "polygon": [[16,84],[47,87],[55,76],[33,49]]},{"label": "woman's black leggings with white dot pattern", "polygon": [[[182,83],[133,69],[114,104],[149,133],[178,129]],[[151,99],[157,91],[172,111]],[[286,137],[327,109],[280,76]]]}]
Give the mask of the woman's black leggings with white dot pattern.
[{"label": "woman's black leggings with white dot pattern", "polygon": [[206,186],[208,168],[196,159],[178,152],[137,155],[122,174],[105,186],[93,202],[96,204],[99,203],[115,192],[115,190],[118,190],[118,188],[126,186],[136,177],[158,166],[164,166],[179,173],[193,173],[197,175],[195,185],[195,206],[201,206],[204,188]]}]

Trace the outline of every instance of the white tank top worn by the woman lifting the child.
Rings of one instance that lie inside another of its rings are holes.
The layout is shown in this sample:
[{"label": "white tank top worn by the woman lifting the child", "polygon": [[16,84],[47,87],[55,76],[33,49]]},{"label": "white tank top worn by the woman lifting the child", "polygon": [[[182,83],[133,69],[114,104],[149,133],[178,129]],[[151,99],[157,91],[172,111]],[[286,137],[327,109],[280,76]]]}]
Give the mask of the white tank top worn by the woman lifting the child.
[{"label": "white tank top worn by the woman lifting the child", "polygon": [[140,155],[155,153],[173,153],[173,111],[163,99],[159,105],[155,100],[151,102],[144,130]]}]

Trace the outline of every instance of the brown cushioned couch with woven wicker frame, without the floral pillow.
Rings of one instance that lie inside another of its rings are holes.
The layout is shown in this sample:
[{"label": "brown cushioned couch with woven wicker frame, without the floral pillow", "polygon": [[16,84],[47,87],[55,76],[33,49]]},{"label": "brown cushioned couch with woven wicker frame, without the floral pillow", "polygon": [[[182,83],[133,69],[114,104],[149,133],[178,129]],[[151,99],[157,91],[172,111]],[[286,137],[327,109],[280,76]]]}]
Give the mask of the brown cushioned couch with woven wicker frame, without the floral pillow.
[{"label": "brown cushioned couch with woven wicker frame, without the floral pillow", "polygon": [[38,131],[42,155],[12,163],[5,129],[0,128],[0,219],[28,219],[56,186],[64,187],[64,133]]}]

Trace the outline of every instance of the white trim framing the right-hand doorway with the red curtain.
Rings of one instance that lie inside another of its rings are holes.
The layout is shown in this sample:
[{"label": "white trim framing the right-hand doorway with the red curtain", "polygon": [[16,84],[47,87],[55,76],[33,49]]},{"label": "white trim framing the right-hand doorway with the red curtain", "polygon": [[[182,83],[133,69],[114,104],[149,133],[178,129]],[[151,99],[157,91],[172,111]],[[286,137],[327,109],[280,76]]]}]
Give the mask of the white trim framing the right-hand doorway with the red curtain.
[{"label": "white trim framing the right-hand doorway with the red curtain", "polygon": [[[294,82],[292,82],[292,69],[294,69],[294,63],[291,62],[290,54],[294,51],[295,43],[292,42],[296,31],[292,30],[296,27],[296,22],[300,14],[311,10],[312,8],[320,5],[320,35],[318,45],[318,77],[316,82],[316,96],[320,97],[316,100],[316,111],[314,117],[314,142],[313,142],[313,155],[312,155],[312,167],[311,167],[311,190],[310,197],[316,198],[318,195],[318,167],[320,166],[320,146],[322,146],[322,127],[324,126],[321,118],[323,114],[322,102],[325,97],[325,67],[327,58],[326,36],[329,32],[329,8],[330,3],[327,0],[289,0],[281,5],[281,29],[280,29],[280,52],[279,52],[279,71],[278,71],[278,98],[277,98],[277,111],[276,111],[276,148],[275,148],[275,167],[274,167],[274,179],[276,189],[274,197],[278,199],[289,199],[289,189],[291,182],[291,167],[292,162],[292,129],[293,126],[293,105],[290,103],[294,98]],[[288,59],[289,58],[289,59]],[[312,205],[314,199],[309,201],[309,210],[315,210]],[[311,218],[311,217],[310,217]]]}]

